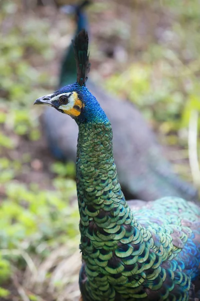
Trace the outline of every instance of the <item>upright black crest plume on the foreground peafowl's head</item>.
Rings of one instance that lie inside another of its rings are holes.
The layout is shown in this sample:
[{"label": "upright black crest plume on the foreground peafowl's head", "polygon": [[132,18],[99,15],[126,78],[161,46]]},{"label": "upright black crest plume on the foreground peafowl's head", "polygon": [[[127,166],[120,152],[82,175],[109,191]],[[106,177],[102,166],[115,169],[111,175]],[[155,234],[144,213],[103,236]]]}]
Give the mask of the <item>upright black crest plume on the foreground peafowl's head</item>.
[{"label": "upright black crest plume on the foreground peafowl's head", "polygon": [[88,34],[83,29],[75,39],[72,40],[73,50],[75,55],[76,70],[77,70],[77,83],[82,86],[87,81],[87,75],[90,70],[88,51]]}]

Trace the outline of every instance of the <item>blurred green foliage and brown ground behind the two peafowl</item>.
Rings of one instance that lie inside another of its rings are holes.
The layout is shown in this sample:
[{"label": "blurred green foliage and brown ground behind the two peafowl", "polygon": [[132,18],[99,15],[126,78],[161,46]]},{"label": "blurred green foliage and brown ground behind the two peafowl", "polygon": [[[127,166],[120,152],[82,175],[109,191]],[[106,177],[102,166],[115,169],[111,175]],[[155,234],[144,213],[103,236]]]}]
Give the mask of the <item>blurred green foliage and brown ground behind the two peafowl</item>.
[{"label": "blurred green foliage and brown ground behind the two peafowl", "polygon": [[[90,76],[141,110],[174,170],[199,187],[187,145],[197,156],[199,1],[93,3]],[[52,159],[42,110],[32,106],[55,89],[72,37],[75,25],[60,13],[62,4],[70,1],[0,2],[0,300],[79,295],[74,165]]]}]

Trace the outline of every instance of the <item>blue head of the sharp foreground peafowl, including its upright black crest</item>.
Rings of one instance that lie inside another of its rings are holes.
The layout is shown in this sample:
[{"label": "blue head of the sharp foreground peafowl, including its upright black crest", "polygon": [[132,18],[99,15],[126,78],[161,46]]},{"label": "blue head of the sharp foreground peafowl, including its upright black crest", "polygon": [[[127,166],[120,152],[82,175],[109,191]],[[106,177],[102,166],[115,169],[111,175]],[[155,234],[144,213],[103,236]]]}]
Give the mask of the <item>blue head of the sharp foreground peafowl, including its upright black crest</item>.
[{"label": "blue head of the sharp foreground peafowl, including its upright black crest", "polygon": [[59,112],[70,115],[77,123],[108,121],[97,100],[85,86],[90,69],[87,32],[80,31],[72,43],[77,69],[76,83],[39,97],[34,104],[52,106]]}]

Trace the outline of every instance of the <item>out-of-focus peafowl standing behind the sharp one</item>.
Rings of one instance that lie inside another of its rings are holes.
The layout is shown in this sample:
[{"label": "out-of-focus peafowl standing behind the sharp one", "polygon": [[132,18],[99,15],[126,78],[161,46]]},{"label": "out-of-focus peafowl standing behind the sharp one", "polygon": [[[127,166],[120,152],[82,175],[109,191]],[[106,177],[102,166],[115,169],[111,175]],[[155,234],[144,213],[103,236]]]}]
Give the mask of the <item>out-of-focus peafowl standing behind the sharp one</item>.
[{"label": "out-of-focus peafowl standing behind the sharp one", "polygon": [[[82,28],[87,28],[87,18],[83,9],[88,4],[88,1],[83,1],[78,6],[70,6],[70,10],[69,7],[63,9],[75,13],[76,34]],[[71,45],[61,63],[59,87],[71,84],[75,80],[76,65]],[[162,156],[155,135],[133,104],[110,96],[90,80],[87,87],[99,99],[112,124],[113,153],[126,198],[148,201],[173,195],[187,200],[197,199],[196,190],[173,173],[171,165]],[[59,160],[75,162],[78,134],[75,122],[47,108],[43,115],[42,128],[52,154]]]}]

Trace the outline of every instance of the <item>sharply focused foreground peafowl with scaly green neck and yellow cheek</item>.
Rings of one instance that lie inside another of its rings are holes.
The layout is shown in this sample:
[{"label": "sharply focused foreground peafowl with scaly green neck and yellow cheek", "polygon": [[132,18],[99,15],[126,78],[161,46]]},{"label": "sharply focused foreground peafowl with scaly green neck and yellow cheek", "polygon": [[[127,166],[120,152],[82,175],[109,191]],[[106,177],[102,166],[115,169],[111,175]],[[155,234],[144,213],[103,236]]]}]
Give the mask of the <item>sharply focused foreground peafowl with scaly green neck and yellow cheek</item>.
[{"label": "sharply focused foreground peafowl with scaly green neck and yellow cheek", "polygon": [[[78,125],[80,300],[196,301],[200,208],[175,196],[146,202],[137,210],[134,202],[126,203],[113,159],[111,123],[85,86],[90,64],[84,30],[75,37],[73,48],[76,83],[34,104],[51,106]],[[61,127],[70,130],[65,123]]]}]

